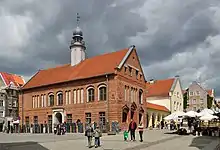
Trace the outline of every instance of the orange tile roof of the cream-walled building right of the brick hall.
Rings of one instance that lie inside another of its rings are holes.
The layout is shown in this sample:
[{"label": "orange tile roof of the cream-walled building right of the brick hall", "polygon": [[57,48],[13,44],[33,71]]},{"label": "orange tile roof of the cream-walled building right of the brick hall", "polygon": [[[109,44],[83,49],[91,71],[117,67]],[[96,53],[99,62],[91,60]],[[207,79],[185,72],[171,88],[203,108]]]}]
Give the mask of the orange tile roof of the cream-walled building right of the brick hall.
[{"label": "orange tile roof of the cream-walled building right of the brick hall", "polygon": [[154,83],[146,83],[147,97],[166,97],[169,96],[169,92],[175,79],[155,80]]}]

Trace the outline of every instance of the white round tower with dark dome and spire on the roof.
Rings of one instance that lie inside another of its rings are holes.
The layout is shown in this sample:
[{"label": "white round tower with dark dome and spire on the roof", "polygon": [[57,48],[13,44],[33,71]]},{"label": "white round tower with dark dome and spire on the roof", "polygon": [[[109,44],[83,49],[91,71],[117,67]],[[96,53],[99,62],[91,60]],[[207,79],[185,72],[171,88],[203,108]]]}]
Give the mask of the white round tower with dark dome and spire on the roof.
[{"label": "white round tower with dark dome and spire on the roof", "polygon": [[85,60],[86,47],[83,41],[83,32],[79,28],[79,14],[77,13],[77,27],[73,31],[73,37],[70,45],[71,50],[71,66],[74,66],[81,61]]}]

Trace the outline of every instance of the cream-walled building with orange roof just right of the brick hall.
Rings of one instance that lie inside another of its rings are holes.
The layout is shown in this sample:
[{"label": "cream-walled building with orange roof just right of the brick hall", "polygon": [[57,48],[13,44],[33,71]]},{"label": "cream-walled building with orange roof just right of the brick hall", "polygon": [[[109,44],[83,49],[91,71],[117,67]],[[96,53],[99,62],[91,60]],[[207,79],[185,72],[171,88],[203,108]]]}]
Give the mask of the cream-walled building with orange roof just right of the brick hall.
[{"label": "cream-walled building with orange roof just right of the brick hall", "polygon": [[178,76],[164,80],[151,80],[146,83],[147,102],[162,105],[171,113],[183,111],[183,93]]}]

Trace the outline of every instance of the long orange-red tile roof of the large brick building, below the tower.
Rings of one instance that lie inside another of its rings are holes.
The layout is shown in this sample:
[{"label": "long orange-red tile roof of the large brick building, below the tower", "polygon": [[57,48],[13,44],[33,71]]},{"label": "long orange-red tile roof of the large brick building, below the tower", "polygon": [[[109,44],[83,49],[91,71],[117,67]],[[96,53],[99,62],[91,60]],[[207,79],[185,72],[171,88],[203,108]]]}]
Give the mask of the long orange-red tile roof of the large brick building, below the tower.
[{"label": "long orange-red tile roof of the large brick building, below the tower", "polygon": [[128,48],[85,59],[75,66],[66,64],[40,70],[24,85],[23,89],[114,73],[127,52]]}]

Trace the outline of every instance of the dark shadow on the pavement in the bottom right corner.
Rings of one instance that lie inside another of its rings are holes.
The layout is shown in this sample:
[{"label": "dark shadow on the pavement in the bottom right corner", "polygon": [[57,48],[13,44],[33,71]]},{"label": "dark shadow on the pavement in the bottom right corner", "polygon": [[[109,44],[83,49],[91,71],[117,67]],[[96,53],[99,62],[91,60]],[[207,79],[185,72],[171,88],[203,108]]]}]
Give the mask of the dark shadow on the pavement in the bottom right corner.
[{"label": "dark shadow on the pavement in the bottom right corner", "polygon": [[[189,145],[189,147],[196,147],[198,149],[203,149],[205,146],[209,145],[216,138],[218,137],[198,136],[192,140],[192,143]],[[211,147],[210,150],[212,150]]]}]

